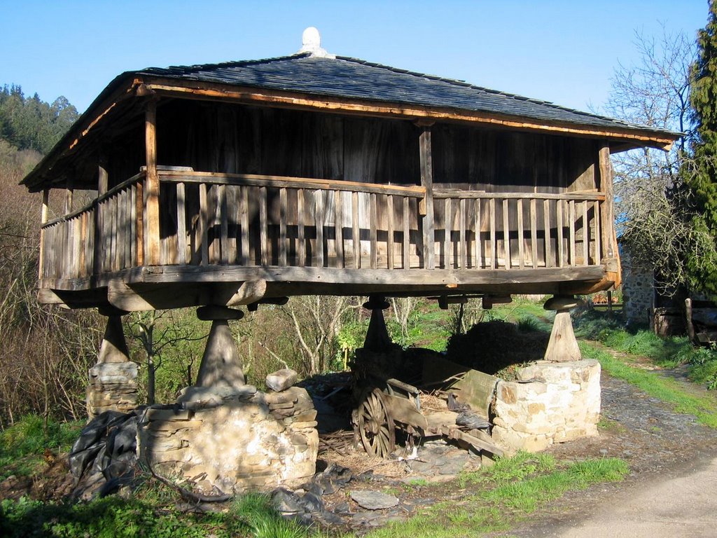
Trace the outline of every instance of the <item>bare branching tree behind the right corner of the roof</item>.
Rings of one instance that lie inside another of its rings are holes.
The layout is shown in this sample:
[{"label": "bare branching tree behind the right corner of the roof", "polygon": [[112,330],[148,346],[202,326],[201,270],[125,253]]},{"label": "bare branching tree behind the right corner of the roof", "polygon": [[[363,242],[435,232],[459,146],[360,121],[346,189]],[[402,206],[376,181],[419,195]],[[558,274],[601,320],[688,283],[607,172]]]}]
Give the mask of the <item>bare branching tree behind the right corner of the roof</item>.
[{"label": "bare branching tree behind the right corner of the roof", "polygon": [[670,151],[640,148],[613,156],[617,229],[632,259],[655,268],[658,288],[670,293],[685,282],[685,250],[711,248],[690,226],[688,190],[680,164],[690,137],[690,64],[695,46],[663,27],[658,37],[637,32],[640,60],[619,64],[604,112],[632,123],[685,133]]}]

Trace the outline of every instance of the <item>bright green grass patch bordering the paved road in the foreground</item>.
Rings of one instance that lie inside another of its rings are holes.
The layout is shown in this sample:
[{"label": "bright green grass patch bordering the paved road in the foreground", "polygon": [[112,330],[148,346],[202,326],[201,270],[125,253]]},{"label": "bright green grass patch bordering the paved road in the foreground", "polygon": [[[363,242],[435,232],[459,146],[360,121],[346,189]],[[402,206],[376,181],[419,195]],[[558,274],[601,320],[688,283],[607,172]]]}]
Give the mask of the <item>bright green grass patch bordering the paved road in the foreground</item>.
[{"label": "bright green grass patch bordering the paved road in the foreground", "polygon": [[475,494],[438,503],[407,522],[389,524],[367,538],[473,537],[508,529],[566,491],[622,480],[630,468],[617,458],[586,460],[562,468],[553,456],[518,453],[480,471],[462,473],[461,489]]}]

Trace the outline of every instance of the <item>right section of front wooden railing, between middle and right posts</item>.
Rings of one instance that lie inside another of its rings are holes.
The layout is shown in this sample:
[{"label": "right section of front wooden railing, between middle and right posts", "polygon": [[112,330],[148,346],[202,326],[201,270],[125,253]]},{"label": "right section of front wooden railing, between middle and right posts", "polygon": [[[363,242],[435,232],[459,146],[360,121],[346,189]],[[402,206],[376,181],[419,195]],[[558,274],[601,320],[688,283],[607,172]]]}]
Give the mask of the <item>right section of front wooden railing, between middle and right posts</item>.
[{"label": "right section of front wooden railing, between middle and right posts", "polygon": [[437,190],[435,252],[443,269],[599,265],[604,194]]}]

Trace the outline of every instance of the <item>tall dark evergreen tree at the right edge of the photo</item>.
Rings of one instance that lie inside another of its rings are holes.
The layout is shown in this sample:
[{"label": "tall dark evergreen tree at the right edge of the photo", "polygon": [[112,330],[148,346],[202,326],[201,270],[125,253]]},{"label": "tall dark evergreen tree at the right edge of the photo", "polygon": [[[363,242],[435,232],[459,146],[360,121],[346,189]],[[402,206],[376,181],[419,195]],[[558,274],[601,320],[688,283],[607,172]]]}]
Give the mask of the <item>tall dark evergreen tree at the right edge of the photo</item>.
[{"label": "tall dark evergreen tree at the right edge of the photo", "polygon": [[687,270],[695,291],[717,298],[717,0],[710,1],[707,25],[698,32],[697,44],[690,93],[695,133],[683,177],[693,193],[695,237],[711,245],[688,253]]}]

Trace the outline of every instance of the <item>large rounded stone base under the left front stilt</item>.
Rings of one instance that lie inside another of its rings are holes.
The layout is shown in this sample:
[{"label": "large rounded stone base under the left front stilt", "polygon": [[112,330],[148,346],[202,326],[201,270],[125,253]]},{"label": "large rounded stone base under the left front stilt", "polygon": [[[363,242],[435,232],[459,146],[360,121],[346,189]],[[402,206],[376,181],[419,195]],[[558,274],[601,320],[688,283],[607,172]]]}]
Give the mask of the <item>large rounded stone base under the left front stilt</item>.
[{"label": "large rounded stone base under the left front stilt", "polygon": [[265,393],[245,385],[223,395],[200,393],[146,412],[138,448],[155,471],[204,494],[272,489],[313,476],[318,432],[305,390]]}]

